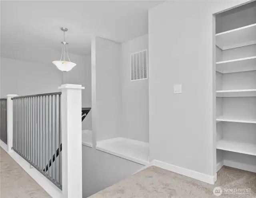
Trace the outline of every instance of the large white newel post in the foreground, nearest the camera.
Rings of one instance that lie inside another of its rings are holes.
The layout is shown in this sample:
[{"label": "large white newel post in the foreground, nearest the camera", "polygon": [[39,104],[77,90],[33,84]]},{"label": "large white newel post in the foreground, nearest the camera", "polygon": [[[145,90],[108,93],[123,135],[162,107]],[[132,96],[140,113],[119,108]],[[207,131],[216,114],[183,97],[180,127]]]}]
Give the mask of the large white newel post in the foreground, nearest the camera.
[{"label": "large white newel post in the foreground, nearest the camera", "polygon": [[62,194],[82,198],[82,85],[62,84]]}]

